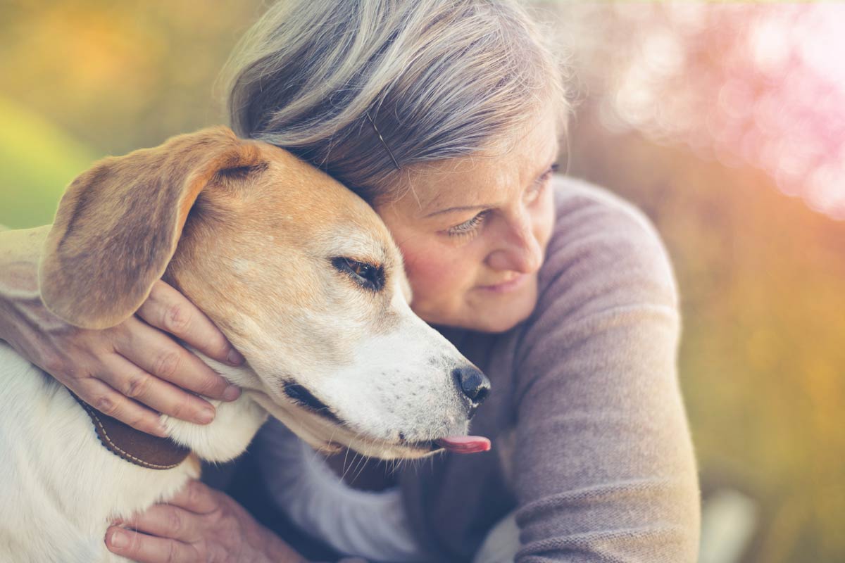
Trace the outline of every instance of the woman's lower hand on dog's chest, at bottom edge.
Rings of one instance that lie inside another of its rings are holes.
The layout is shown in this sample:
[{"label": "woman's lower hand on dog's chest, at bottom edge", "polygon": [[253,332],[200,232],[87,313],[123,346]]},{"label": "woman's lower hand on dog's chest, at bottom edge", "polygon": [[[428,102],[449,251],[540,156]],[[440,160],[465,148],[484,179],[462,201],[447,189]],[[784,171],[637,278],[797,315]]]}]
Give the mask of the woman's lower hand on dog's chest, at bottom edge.
[{"label": "woman's lower hand on dog's chest, at bottom edge", "polygon": [[106,531],[106,546],[139,563],[305,562],[237,502],[199,481],[188,482],[169,504],[116,522]]}]

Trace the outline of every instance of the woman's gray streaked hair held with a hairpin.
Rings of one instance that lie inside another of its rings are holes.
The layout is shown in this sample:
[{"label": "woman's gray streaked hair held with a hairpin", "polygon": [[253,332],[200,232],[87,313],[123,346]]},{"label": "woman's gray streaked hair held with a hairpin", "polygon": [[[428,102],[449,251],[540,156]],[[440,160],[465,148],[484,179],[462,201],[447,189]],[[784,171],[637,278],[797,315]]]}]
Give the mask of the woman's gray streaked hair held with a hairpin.
[{"label": "woman's gray streaked hair held with a hairpin", "polygon": [[507,0],[281,0],[223,80],[238,135],[290,150],[370,203],[400,168],[478,153],[549,100],[569,111],[552,50]]}]

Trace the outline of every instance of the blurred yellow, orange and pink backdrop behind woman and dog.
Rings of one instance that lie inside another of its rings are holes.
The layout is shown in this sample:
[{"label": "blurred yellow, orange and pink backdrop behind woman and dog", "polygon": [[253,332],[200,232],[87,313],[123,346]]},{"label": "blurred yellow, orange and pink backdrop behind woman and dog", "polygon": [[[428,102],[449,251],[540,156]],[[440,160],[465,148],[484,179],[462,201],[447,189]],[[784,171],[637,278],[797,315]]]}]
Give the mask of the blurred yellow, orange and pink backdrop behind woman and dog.
[{"label": "blurred yellow, orange and pink backdrop behind woman and dog", "polygon": [[[225,122],[215,78],[262,7],[0,3],[0,224],[49,223],[103,155]],[[574,74],[564,165],[673,257],[705,501],[744,500],[722,544],[750,530],[708,560],[842,563],[845,6],[535,7]]]}]

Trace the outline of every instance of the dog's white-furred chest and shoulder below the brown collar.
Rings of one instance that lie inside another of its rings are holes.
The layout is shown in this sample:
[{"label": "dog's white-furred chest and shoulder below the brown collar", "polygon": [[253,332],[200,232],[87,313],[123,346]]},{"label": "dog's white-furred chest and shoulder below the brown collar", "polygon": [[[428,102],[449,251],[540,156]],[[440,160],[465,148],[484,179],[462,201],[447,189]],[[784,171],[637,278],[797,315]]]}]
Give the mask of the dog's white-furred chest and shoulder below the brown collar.
[{"label": "dog's white-furred chest and shoulder below the brown collar", "polygon": [[112,518],[171,497],[195,466],[154,471],[108,452],[67,389],[3,343],[0,376],[0,560],[117,560],[103,543]]}]

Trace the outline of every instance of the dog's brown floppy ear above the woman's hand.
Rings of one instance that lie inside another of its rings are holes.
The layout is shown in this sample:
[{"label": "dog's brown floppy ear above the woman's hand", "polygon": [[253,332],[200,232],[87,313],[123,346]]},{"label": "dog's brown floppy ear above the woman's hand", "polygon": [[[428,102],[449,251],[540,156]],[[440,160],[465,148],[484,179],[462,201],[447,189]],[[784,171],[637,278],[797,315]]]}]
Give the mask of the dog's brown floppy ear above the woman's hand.
[{"label": "dog's brown floppy ear above the woman's hand", "polygon": [[39,271],[45,306],[83,328],[128,318],[165,272],[199,192],[215,175],[243,176],[260,159],[254,143],[212,127],[83,172],[47,236]]}]

